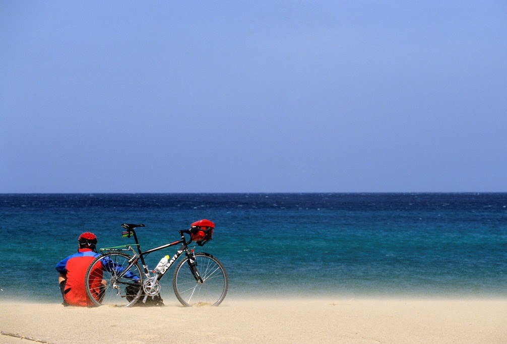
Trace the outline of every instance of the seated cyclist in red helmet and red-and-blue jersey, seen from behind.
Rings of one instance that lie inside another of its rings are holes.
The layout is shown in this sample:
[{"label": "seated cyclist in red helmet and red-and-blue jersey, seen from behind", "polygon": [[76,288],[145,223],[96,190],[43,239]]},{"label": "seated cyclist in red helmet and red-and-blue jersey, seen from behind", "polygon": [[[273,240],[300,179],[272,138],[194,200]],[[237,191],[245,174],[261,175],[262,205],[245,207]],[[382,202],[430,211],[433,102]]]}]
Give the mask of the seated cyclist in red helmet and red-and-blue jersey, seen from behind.
[{"label": "seated cyclist in red helmet and red-and-blue jersey, seen from behind", "polygon": [[90,263],[99,254],[95,251],[97,237],[90,232],[78,238],[78,252],[69,255],[56,264],[58,284],[63,296],[63,305],[86,307],[92,305],[85,289],[85,274]]}]

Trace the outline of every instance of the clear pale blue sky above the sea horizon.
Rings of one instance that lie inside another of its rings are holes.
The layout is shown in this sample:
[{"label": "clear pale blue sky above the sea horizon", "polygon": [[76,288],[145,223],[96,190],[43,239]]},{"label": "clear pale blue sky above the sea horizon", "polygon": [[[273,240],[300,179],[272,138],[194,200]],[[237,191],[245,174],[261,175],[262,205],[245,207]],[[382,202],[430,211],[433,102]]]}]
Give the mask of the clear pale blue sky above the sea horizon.
[{"label": "clear pale blue sky above the sea horizon", "polygon": [[0,193],[506,192],[507,2],[0,2]]}]

